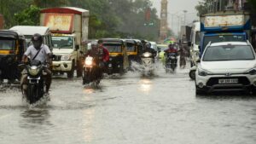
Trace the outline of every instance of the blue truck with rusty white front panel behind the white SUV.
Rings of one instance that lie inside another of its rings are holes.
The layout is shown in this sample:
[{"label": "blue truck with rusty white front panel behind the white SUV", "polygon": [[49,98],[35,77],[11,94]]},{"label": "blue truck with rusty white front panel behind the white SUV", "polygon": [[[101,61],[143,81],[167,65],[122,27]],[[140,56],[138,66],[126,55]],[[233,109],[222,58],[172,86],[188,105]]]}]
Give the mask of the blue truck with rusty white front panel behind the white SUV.
[{"label": "blue truck with rusty white front panel behind the white SUV", "polygon": [[208,43],[245,42],[252,28],[246,11],[219,11],[201,15],[200,56]]}]

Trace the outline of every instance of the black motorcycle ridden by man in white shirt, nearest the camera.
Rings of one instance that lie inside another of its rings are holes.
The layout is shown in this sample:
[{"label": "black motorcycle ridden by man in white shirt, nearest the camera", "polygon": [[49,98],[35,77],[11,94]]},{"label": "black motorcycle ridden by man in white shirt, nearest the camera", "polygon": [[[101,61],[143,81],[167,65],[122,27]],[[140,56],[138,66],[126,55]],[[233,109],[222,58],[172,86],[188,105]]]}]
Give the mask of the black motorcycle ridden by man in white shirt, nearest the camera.
[{"label": "black motorcycle ridden by man in white shirt, nearest the camera", "polygon": [[46,65],[42,64],[39,60],[31,60],[25,66],[27,72],[27,87],[21,86],[22,94],[26,96],[26,101],[33,104],[39,101],[46,94],[46,86],[44,76],[47,72],[44,69]]}]

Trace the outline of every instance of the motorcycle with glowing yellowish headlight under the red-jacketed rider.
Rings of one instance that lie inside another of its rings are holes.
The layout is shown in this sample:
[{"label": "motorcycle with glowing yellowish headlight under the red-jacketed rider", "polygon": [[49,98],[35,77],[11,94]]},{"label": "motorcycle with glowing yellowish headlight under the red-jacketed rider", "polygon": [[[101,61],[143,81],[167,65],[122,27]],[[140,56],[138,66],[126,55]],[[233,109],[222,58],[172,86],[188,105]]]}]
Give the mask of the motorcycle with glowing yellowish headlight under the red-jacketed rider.
[{"label": "motorcycle with glowing yellowish headlight under the red-jacketed rider", "polygon": [[100,67],[96,65],[96,60],[91,56],[87,56],[84,60],[82,78],[83,84],[100,84],[102,72],[100,70]]}]

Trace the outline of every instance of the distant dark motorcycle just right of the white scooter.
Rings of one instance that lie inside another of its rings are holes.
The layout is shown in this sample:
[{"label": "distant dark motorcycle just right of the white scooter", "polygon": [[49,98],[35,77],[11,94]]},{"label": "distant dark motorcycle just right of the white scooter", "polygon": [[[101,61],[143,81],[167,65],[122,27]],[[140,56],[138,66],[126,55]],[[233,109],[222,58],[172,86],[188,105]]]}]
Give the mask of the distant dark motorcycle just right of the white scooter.
[{"label": "distant dark motorcycle just right of the white scooter", "polygon": [[166,72],[174,72],[177,67],[177,54],[167,53],[166,54]]}]

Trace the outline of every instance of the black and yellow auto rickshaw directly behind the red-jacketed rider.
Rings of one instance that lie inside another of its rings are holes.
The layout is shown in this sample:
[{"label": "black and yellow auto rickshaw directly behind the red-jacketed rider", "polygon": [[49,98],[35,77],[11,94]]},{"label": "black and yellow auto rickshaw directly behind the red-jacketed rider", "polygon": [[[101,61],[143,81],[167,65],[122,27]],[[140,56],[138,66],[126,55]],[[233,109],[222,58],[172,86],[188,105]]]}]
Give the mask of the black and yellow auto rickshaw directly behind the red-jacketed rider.
[{"label": "black and yellow auto rickshaw directly behind the red-jacketed rider", "polygon": [[129,68],[125,40],[103,38],[103,46],[109,51],[108,74],[123,74]]}]

